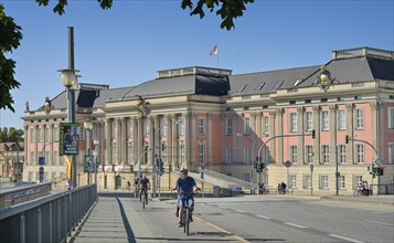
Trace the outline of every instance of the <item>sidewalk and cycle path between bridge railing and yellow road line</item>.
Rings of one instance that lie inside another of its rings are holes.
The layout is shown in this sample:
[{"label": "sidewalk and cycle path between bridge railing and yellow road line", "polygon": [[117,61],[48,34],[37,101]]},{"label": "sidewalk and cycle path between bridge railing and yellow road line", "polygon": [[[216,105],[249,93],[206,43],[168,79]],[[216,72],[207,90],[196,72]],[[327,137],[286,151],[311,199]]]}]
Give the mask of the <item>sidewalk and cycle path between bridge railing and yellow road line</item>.
[{"label": "sidewalk and cycle path between bridge railing and yellow road line", "polygon": [[131,197],[100,197],[67,242],[243,242],[194,215],[190,235],[178,228],[175,200],[149,201],[146,209]]}]

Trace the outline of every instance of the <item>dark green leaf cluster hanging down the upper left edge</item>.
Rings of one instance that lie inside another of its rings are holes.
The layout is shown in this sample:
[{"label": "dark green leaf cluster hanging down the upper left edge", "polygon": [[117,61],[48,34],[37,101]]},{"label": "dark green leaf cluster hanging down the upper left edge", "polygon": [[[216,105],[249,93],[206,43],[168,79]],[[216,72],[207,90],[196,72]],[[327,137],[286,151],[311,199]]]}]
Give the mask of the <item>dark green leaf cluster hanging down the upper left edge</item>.
[{"label": "dark green leaf cluster hanging down the upper left edge", "polygon": [[15,62],[7,59],[6,54],[19,46],[22,40],[21,30],[11,17],[6,15],[4,7],[0,4],[0,109],[9,108],[15,112],[10,91],[18,88],[20,83],[13,77]]}]

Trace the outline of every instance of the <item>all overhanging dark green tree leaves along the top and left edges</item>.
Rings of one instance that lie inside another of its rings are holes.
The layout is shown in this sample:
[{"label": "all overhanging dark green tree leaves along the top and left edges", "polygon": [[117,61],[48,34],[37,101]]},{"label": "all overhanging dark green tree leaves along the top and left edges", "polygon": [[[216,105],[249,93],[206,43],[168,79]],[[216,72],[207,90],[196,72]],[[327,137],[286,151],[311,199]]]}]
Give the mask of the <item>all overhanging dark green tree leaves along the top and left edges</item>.
[{"label": "all overhanging dark green tree leaves along the top and left edges", "polygon": [[[53,12],[57,14],[65,13],[67,0],[54,0],[57,4],[53,8]],[[98,4],[104,10],[113,7],[114,0],[97,0]],[[47,6],[50,0],[35,0],[39,6]],[[254,0],[198,0],[196,4],[192,0],[182,0],[181,8],[191,10],[190,15],[200,15],[203,19],[205,15],[204,9],[213,12],[216,10],[216,15],[222,18],[221,28],[231,30],[234,27],[234,19],[242,17],[246,10],[247,3],[253,3]],[[4,7],[0,4],[0,109],[9,108],[15,112],[12,107],[13,98],[10,91],[19,88],[20,83],[14,80],[15,62],[12,59],[6,59],[6,53],[12,52],[20,45],[22,40],[21,28],[13,22],[11,17],[6,15]]]}]

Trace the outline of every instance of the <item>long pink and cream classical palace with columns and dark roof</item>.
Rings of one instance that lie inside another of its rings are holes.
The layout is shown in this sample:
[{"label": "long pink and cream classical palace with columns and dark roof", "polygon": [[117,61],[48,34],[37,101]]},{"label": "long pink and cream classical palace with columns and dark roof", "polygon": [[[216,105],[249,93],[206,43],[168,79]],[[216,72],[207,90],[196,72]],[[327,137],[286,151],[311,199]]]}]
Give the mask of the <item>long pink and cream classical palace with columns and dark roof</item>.
[{"label": "long pink and cream classical palace with columns and dark roof", "polygon": [[[285,181],[300,193],[352,193],[362,180],[375,193],[394,193],[393,91],[394,52],[371,47],[333,51],[316,66],[237,75],[192,66],[137,86],[79,84],[78,175],[90,146],[99,188],[151,172],[157,155],[166,171],[204,167],[271,188]],[[39,157],[46,180],[65,177],[55,141],[67,123],[66,93],[47,102],[23,116],[24,180],[38,180]],[[265,165],[260,177],[256,159]],[[383,176],[373,178],[372,165]]]}]

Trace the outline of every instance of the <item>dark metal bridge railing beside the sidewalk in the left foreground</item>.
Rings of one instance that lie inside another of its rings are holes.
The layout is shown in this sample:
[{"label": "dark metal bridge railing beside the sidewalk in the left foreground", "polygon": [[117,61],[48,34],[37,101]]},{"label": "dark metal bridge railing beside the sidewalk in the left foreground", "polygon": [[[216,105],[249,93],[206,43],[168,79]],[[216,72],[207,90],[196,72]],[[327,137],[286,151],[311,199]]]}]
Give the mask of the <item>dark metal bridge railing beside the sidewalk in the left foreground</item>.
[{"label": "dark metal bridge railing beside the sidewalk in the left foreground", "polygon": [[0,242],[66,242],[96,200],[90,184],[0,209]]}]

